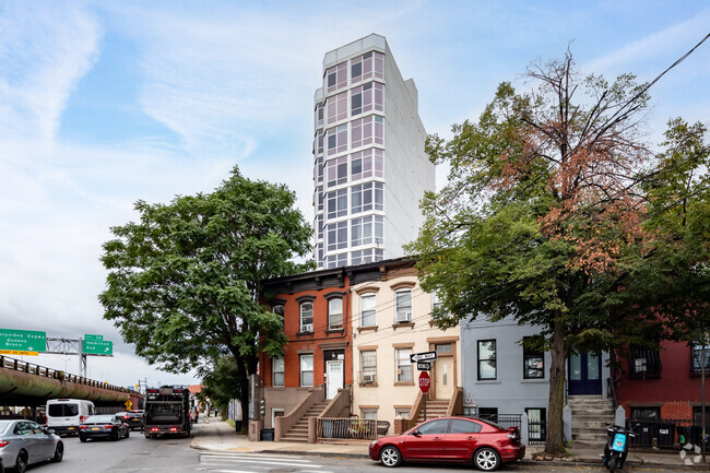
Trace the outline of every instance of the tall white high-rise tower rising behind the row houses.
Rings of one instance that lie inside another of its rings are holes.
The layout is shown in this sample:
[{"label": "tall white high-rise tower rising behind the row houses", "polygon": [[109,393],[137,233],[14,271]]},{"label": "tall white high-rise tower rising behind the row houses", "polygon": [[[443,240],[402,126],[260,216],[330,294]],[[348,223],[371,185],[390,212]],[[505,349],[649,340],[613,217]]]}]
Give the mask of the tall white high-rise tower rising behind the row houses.
[{"label": "tall white high-rise tower rising behind the row houses", "polygon": [[435,188],[424,152],[417,90],[404,81],[384,37],[326,54],[315,96],[313,206],[318,268],[403,256]]}]

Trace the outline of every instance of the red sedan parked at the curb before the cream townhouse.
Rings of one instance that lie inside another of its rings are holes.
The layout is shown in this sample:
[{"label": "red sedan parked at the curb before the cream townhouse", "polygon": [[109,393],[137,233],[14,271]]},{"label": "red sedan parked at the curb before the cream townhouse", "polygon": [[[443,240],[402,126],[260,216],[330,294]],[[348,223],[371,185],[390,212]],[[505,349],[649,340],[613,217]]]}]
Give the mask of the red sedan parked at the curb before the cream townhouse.
[{"label": "red sedan parked at the curb before the cream townhouse", "polygon": [[384,466],[398,466],[403,461],[473,462],[478,470],[494,471],[524,456],[518,427],[468,417],[438,417],[370,444],[370,459]]}]

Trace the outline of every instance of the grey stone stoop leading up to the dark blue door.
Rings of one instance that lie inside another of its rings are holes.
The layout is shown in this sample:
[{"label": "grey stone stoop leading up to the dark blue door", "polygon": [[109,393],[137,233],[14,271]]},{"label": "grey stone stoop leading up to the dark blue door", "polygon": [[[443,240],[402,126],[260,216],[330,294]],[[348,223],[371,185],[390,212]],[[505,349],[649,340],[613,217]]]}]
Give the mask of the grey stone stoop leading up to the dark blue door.
[{"label": "grey stone stoop leading up to the dark blue door", "polygon": [[606,444],[606,423],[614,424],[614,410],[602,395],[570,395],[573,447],[594,447],[600,451]]}]

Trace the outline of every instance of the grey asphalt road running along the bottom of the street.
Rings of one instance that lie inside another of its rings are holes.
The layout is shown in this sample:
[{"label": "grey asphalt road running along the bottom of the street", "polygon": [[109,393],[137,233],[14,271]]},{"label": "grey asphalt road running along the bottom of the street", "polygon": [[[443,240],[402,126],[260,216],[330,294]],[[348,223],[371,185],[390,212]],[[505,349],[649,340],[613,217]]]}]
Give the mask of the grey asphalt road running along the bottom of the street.
[{"label": "grey asphalt road running along the bottom of the street", "polygon": [[[194,427],[199,429],[200,426]],[[139,431],[118,441],[90,440],[81,444],[76,437],[66,437],[64,459],[61,463],[31,466],[28,473],[354,473],[390,472],[379,463],[366,459],[283,456],[267,453],[215,453],[190,448],[191,438],[149,440]],[[397,473],[463,473],[475,471],[472,465],[402,465]],[[504,465],[501,473],[523,472],[597,472],[601,468],[520,464]]]}]

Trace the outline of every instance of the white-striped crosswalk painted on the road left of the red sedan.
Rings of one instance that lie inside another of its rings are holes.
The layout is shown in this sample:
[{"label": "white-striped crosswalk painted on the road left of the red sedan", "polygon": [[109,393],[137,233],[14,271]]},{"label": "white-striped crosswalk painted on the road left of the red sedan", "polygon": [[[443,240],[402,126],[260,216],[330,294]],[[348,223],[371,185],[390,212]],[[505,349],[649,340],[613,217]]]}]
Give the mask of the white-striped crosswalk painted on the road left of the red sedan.
[{"label": "white-striped crosswalk painted on the road left of the red sedan", "polygon": [[214,473],[255,473],[255,472],[294,472],[294,473],[333,473],[323,470],[308,459],[296,456],[263,453],[200,453],[200,466],[196,471]]}]

